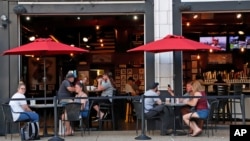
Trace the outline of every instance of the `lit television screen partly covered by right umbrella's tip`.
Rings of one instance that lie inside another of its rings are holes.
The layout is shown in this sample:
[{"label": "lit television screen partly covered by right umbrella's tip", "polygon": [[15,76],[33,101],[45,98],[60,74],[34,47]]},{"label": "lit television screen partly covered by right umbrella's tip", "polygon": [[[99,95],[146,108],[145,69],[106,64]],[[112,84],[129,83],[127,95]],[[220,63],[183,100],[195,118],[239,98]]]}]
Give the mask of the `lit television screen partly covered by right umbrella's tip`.
[{"label": "lit television screen partly covered by right umbrella's tip", "polygon": [[214,46],[214,47],[218,47],[222,51],[226,51],[226,48],[227,48],[227,37],[226,36],[200,37],[200,42]]}]

